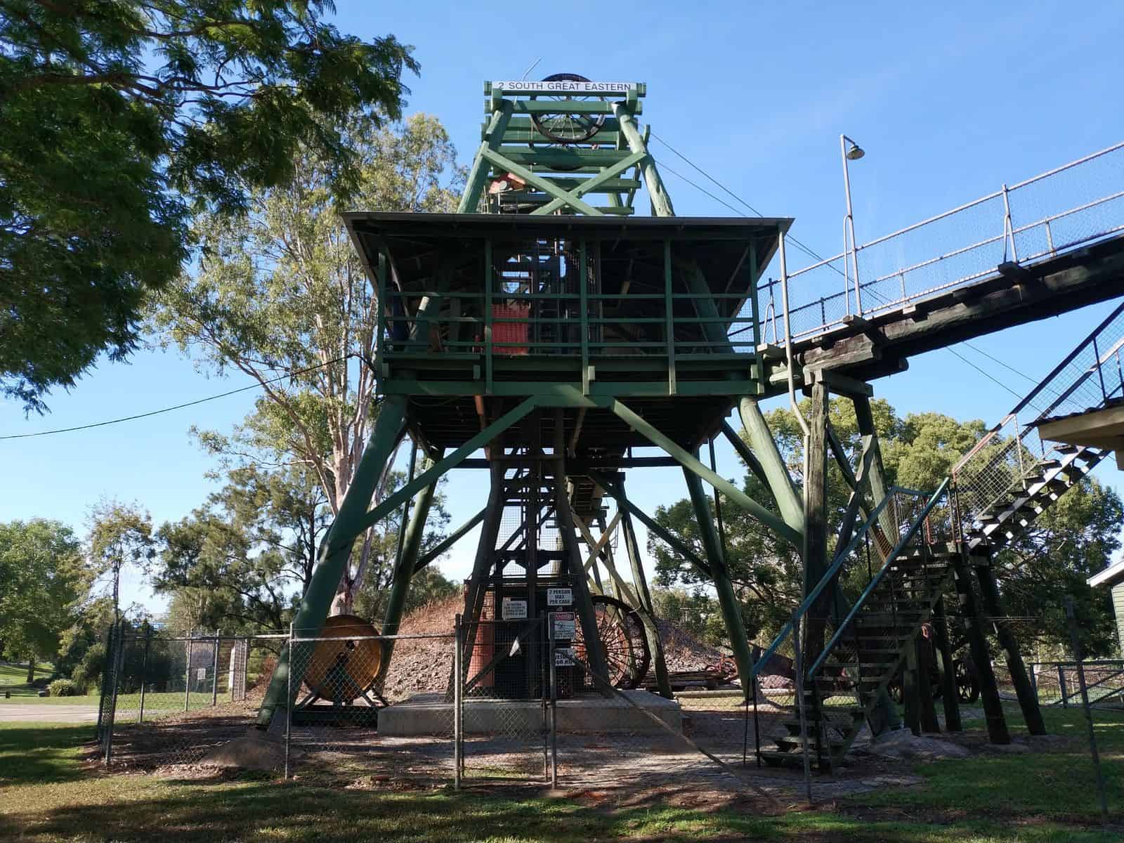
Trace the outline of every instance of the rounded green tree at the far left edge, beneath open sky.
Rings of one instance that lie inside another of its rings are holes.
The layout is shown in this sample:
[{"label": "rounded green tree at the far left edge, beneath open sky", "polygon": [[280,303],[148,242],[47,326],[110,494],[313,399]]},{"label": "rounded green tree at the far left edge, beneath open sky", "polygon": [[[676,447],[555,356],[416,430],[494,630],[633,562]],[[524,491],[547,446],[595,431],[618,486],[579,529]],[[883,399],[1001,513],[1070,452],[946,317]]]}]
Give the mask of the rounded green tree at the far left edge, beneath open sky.
[{"label": "rounded green tree at the far left edge, beneath open sky", "polygon": [[44,518],[0,523],[0,641],[8,653],[53,655],[88,584],[70,527]]}]

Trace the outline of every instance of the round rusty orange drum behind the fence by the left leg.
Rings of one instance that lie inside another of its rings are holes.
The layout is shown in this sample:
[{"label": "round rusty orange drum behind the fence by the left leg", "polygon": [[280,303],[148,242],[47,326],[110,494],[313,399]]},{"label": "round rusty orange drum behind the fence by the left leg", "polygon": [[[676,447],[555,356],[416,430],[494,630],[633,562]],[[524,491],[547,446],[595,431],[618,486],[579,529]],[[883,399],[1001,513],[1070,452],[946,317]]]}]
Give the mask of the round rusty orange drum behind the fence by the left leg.
[{"label": "round rusty orange drum behind the fence by the left leg", "polygon": [[[366,691],[382,668],[379,631],[355,615],[333,615],[319,640],[298,644],[311,647],[305,669],[305,685],[320,699],[348,705]],[[307,650],[305,651],[308,652]],[[300,650],[296,651],[299,658]]]}]

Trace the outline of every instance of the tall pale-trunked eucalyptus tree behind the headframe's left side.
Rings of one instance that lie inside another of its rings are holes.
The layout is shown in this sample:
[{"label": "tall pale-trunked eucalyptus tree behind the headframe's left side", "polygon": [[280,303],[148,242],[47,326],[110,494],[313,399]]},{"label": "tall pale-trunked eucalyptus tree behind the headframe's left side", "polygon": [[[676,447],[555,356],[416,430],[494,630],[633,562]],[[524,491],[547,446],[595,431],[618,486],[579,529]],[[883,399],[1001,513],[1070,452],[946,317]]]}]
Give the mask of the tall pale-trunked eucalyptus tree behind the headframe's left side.
[{"label": "tall pale-trunked eucalyptus tree behind the headframe's left side", "polygon": [[[201,368],[262,384],[245,424],[201,432],[202,443],[234,463],[302,466],[333,515],[378,414],[379,302],[339,212],[452,210],[463,179],[447,133],[426,115],[374,133],[360,121],[348,144],[359,163],[347,202],[334,189],[335,162],[301,148],[299,179],[250,191],[243,216],[200,217],[198,263],[161,293],[154,319]],[[389,473],[383,490],[388,482]],[[370,531],[360,541],[334,611],[351,609],[374,540]]]}]

